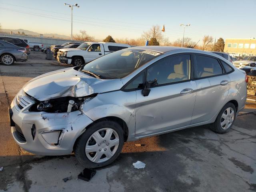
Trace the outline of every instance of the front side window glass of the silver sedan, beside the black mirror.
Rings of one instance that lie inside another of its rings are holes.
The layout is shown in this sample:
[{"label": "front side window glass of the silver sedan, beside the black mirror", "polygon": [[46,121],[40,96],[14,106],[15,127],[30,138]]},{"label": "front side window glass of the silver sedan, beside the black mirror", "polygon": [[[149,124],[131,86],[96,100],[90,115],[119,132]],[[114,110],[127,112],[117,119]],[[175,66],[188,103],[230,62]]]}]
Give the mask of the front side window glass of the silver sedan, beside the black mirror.
[{"label": "front side window glass of the silver sedan, beside the black mirror", "polygon": [[156,85],[190,79],[190,55],[167,56],[148,68],[147,81]]}]

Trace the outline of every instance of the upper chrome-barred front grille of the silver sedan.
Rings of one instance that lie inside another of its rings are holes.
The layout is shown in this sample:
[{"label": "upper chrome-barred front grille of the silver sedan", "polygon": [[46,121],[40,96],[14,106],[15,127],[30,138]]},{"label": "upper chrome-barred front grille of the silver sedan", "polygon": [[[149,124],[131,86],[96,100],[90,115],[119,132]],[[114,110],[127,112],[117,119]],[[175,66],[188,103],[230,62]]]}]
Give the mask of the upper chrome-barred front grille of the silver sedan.
[{"label": "upper chrome-barred front grille of the silver sedan", "polygon": [[21,90],[16,97],[14,98],[15,101],[15,108],[16,110],[20,111],[23,108],[25,108],[26,106],[34,103],[34,99],[32,97],[30,97],[28,94],[26,94],[23,90]]}]

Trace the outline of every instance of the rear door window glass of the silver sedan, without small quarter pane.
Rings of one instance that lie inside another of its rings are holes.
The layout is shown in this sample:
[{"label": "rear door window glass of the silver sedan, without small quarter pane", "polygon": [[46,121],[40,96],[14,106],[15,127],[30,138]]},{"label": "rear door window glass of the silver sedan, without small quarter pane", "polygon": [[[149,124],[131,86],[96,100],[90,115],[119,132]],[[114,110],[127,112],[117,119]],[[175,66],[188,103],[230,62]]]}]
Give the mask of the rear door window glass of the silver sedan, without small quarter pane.
[{"label": "rear door window glass of the silver sedan, without small quarter pane", "polygon": [[217,59],[196,55],[197,77],[208,77],[223,74],[222,67]]}]

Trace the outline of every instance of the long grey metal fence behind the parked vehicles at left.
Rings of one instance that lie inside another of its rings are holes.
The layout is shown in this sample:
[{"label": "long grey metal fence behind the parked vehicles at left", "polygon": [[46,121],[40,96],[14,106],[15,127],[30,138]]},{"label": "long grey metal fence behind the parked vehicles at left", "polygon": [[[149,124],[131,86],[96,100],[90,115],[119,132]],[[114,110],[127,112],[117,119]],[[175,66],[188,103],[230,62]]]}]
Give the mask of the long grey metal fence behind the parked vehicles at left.
[{"label": "long grey metal fence behind the parked vehicles at left", "polygon": [[71,41],[71,40],[67,40],[67,39],[42,38],[42,37],[23,36],[23,35],[11,35],[11,34],[4,34],[4,33],[0,33],[0,36],[26,39],[26,40],[28,40],[28,42],[42,43],[42,44],[44,44],[44,47],[54,45],[54,44],[64,44],[66,42],[80,42],[80,41],[76,41],[76,40]]}]

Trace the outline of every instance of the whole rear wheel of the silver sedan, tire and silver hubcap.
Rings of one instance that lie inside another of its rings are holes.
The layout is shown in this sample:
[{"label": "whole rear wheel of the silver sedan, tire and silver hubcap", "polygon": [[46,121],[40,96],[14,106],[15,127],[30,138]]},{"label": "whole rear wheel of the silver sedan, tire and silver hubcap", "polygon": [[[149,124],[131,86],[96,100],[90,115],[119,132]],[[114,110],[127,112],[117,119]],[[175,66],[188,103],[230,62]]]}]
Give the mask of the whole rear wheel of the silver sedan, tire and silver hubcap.
[{"label": "whole rear wheel of the silver sedan, tire and silver hubcap", "polygon": [[210,125],[211,130],[217,133],[228,132],[236,119],[236,107],[232,103],[227,103],[218,114],[215,122]]}]

